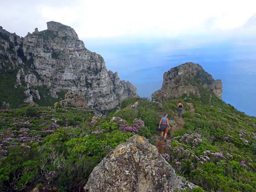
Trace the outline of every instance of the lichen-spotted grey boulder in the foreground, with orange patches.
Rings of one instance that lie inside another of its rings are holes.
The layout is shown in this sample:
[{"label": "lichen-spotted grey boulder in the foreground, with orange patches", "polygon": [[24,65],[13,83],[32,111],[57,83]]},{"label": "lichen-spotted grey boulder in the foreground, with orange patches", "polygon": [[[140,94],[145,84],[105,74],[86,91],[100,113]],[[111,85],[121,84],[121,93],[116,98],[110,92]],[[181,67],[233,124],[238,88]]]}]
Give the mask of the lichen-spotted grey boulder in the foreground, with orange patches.
[{"label": "lichen-spotted grey boulder in the foreground, with orange patches", "polygon": [[195,187],[175,174],[157,148],[134,135],[118,145],[94,169],[86,192],[173,192]]}]

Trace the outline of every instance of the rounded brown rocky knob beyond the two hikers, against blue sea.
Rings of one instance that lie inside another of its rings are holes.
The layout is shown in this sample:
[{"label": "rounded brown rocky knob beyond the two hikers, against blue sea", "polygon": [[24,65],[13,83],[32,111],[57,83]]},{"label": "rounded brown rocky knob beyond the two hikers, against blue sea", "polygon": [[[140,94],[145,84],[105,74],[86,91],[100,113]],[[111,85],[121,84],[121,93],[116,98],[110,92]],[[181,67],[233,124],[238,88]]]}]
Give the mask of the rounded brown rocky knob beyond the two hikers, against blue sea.
[{"label": "rounded brown rocky knob beyond the two hikers, against blue sea", "polygon": [[162,88],[152,94],[152,100],[173,99],[184,94],[200,97],[197,85],[212,91],[219,99],[222,98],[221,80],[214,80],[199,64],[185,63],[163,74]]}]

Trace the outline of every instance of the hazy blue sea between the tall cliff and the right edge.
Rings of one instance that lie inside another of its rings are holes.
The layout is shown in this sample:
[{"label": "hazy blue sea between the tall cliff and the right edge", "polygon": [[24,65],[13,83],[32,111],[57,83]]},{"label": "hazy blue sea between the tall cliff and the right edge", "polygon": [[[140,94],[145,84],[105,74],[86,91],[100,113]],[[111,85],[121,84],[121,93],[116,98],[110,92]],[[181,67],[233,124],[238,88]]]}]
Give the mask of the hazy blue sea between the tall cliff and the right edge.
[{"label": "hazy blue sea between the tall cliff and the right edge", "polygon": [[160,89],[163,73],[186,62],[202,65],[223,83],[222,99],[250,116],[256,116],[256,44],[211,42],[196,46],[177,41],[115,41],[85,39],[87,49],[101,54],[106,67],[121,80],[137,87],[140,97]]}]

